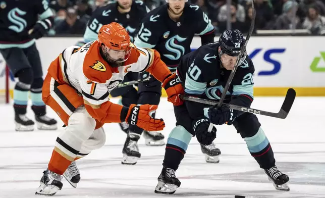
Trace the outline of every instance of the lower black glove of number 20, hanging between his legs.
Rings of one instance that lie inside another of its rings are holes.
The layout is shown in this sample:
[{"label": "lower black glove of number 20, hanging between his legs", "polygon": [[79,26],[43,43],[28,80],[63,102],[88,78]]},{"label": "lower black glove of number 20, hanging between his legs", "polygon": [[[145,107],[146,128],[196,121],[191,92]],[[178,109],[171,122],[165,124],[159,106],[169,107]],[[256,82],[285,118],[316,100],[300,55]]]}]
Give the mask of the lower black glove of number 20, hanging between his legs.
[{"label": "lower black glove of number 20, hanging between his legs", "polygon": [[209,145],[216,137],[216,128],[214,126],[211,132],[207,132],[209,125],[210,122],[205,118],[193,121],[193,130],[198,142],[201,144]]}]

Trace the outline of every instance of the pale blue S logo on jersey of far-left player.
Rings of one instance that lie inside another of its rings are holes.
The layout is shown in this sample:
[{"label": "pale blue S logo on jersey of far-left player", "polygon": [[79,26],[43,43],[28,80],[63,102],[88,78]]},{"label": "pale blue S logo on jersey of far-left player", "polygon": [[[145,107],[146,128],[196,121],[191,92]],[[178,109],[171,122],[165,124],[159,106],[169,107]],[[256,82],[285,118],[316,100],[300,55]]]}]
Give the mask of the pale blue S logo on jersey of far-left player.
[{"label": "pale blue S logo on jersey of far-left player", "polygon": [[20,10],[19,8],[14,8],[8,13],[8,19],[15,25],[11,25],[8,28],[15,32],[22,32],[24,28],[27,26],[27,22],[25,19],[20,16],[25,15],[26,12]]}]

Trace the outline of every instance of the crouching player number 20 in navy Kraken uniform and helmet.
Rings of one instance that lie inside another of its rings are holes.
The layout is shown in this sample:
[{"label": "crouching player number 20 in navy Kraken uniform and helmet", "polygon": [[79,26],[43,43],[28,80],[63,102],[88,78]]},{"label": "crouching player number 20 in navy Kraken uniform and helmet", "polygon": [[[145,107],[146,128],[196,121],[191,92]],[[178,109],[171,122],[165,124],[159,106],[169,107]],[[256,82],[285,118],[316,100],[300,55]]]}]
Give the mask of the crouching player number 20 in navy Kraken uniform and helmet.
[{"label": "crouching player number 20 in navy Kraken uniform and helmet", "polygon": [[[221,34],[219,42],[205,44],[195,52],[185,55],[177,69],[181,81],[184,82],[185,93],[219,100],[244,43],[244,36],[239,30],[226,30]],[[227,91],[225,102],[250,107],[253,102],[254,71],[254,65],[245,52]],[[196,135],[197,140],[203,144],[213,141],[216,128],[207,132],[210,123],[233,124],[246,141],[251,156],[264,169],[269,180],[277,189],[289,190],[286,185],[289,177],[275,165],[272,147],[254,114],[229,108],[207,108],[204,104],[189,101],[174,107],[174,110],[177,126],[170,133],[166,145],[164,167],[158,177],[156,193],[172,194],[181,185],[175,171],[184,158],[192,135]]]}]

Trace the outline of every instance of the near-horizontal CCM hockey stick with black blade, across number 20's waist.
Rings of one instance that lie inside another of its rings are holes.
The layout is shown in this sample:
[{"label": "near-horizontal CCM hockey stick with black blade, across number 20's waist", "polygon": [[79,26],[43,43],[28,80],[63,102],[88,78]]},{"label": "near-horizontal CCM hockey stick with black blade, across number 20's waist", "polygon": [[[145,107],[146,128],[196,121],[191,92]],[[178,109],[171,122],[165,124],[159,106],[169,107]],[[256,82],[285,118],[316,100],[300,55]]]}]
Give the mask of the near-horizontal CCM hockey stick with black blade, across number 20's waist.
[{"label": "near-horizontal CCM hockey stick with black blade, across number 20's waist", "polygon": [[281,106],[281,109],[278,113],[267,112],[267,111],[262,111],[262,110],[258,110],[258,109],[247,108],[247,107],[241,107],[238,105],[231,105],[231,104],[227,104],[227,103],[220,103],[220,102],[216,102],[216,101],[206,100],[203,98],[187,96],[187,95],[180,95],[180,97],[182,98],[182,100],[185,100],[185,101],[192,101],[192,102],[196,102],[196,103],[202,103],[202,104],[213,105],[213,106],[218,105],[220,107],[230,108],[230,109],[241,111],[241,112],[248,112],[248,113],[258,114],[258,115],[262,115],[262,116],[269,116],[269,117],[274,117],[274,118],[285,119],[290,112],[293,102],[295,101],[296,91],[293,88],[288,89],[285,100],[284,100],[284,102]]}]

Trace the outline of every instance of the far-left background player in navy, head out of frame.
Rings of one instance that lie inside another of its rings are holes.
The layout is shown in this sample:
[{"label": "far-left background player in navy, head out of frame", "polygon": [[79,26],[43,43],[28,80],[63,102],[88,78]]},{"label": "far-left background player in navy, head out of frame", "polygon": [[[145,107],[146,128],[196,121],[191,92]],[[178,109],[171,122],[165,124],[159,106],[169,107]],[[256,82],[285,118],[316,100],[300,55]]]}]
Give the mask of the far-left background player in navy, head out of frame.
[{"label": "far-left background player in navy, head out of frame", "polygon": [[35,39],[52,26],[53,15],[46,0],[0,2],[0,53],[18,78],[14,88],[16,131],[34,130],[26,116],[28,92],[38,129],[57,129],[57,121],[46,116],[42,101],[42,66]]}]

